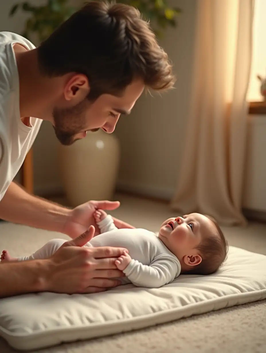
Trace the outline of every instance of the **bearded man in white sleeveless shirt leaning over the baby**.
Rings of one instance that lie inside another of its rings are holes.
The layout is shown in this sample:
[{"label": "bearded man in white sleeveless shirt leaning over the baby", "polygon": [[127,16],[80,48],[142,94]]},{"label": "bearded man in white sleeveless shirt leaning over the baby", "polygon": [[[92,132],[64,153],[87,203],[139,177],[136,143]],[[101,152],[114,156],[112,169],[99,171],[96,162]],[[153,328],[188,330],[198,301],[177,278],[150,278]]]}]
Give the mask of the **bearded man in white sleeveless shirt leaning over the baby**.
[{"label": "bearded man in white sleeveless shirt leaning over the baby", "polygon": [[130,6],[89,2],[37,48],[17,34],[0,33],[0,218],[73,239],[52,258],[1,263],[0,297],[91,293],[119,284],[112,279],[122,275],[114,260],[124,249],[83,247],[94,235],[94,211],[119,202],[90,201],[69,210],[29,195],[12,180],[42,120],[70,145],[88,130],[112,133],[144,88],[161,91],[173,83],[166,53]]}]

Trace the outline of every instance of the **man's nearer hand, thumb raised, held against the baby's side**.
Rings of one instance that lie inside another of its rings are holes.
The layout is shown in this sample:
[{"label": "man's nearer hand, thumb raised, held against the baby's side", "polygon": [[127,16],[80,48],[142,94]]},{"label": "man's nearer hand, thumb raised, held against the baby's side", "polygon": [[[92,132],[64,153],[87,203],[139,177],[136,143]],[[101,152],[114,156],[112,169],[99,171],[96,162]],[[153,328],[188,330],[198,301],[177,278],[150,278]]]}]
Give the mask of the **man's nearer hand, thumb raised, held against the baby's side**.
[{"label": "man's nearer hand, thumb raised, held against the baby's side", "polygon": [[64,243],[48,259],[48,278],[45,290],[57,293],[94,293],[121,283],[112,280],[123,277],[114,264],[128,250],[115,247],[84,247],[93,238],[94,227],[76,239]]}]

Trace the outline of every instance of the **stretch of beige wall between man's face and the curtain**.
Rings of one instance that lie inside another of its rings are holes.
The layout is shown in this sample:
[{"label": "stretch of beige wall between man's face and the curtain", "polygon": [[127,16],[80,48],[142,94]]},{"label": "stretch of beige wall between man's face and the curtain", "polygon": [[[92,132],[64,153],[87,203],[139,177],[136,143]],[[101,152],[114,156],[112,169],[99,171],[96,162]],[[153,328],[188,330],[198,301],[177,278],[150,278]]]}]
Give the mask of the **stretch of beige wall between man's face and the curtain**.
[{"label": "stretch of beige wall between man's face and the curtain", "polygon": [[196,1],[172,0],[183,14],[178,27],[161,41],[177,75],[176,89],[142,97],[132,116],[116,129],[122,146],[118,186],[123,190],[171,198],[180,169],[190,95]]}]

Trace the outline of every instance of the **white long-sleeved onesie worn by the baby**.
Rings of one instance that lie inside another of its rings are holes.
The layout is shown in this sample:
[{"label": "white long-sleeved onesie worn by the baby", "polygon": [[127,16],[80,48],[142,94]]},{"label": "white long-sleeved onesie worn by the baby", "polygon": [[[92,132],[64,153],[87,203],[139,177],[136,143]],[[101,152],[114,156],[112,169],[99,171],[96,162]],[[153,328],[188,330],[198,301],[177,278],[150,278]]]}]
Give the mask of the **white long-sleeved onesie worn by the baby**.
[{"label": "white long-sleeved onesie worn by the baby", "polygon": [[[167,249],[155,233],[147,229],[118,229],[110,215],[98,223],[101,234],[85,246],[112,246],[128,249],[132,258],[124,269],[126,277],[122,284],[133,283],[138,287],[158,288],[172,282],[181,273],[178,258]],[[64,239],[53,239],[30,256],[19,261],[48,258],[65,243]]]}]

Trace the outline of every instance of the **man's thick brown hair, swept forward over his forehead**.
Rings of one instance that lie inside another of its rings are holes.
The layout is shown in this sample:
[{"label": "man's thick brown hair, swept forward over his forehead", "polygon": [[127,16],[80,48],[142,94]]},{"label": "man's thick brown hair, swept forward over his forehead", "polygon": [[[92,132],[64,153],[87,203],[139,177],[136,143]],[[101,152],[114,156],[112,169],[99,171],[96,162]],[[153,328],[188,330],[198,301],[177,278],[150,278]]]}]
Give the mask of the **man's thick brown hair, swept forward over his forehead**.
[{"label": "man's thick brown hair, swept forward over his forehead", "polygon": [[69,72],[87,76],[89,100],[120,96],[132,80],[146,88],[172,88],[167,54],[140,12],[128,5],[89,1],[37,48],[40,70],[48,76]]}]

